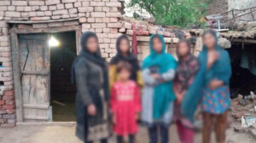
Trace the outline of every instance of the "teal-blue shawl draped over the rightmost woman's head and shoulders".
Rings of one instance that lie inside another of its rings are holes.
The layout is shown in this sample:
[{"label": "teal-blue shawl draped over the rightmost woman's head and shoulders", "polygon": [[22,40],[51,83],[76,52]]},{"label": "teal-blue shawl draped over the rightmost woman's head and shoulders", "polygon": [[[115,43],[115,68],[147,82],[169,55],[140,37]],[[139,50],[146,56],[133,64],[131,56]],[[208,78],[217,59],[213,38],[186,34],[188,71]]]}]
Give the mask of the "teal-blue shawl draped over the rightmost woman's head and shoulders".
[{"label": "teal-blue shawl draped over the rightmost woman's head and shoulders", "polygon": [[212,67],[207,70],[207,46],[203,45],[203,49],[198,56],[200,62],[200,71],[195,77],[194,83],[184,96],[182,103],[183,116],[188,117],[191,122],[194,122],[195,110],[202,98],[201,89],[207,88],[212,79],[217,78],[229,85],[231,76],[231,64],[229,53],[218,45],[218,35],[216,31],[207,30],[203,36],[211,34],[215,37],[215,49],[218,51],[219,58],[214,62]]}]

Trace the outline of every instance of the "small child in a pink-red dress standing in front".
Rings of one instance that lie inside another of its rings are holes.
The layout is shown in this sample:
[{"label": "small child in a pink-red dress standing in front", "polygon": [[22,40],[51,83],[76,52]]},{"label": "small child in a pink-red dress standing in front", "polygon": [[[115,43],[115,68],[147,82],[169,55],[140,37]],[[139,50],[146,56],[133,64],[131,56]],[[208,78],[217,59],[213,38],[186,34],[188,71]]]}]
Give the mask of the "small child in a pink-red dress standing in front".
[{"label": "small child in a pink-red dress standing in front", "polygon": [[113,112],[113,131],[117,134],[117,142],[122,143],[125,135],[129,135],[129,143],[135,143],[138,131],[137,118],[141,112],[140,92],[131,76],[131,65],[121,61],[117,66],[119,80],[113,83],[111,95],[111,111]]}]

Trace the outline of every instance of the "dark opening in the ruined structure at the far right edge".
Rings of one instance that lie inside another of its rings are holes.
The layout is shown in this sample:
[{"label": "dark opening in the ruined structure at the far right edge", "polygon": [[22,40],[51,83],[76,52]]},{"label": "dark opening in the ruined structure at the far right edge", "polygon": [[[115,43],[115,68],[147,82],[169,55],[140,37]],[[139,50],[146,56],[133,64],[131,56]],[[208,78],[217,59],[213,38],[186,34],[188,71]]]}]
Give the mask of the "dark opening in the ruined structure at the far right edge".
[{"label": "dark opening in the ruined structure at the far right edge", "polygon": [[256,91],[256,49],[250,43],[232,43],[228,49],[232,65],[230,79],[231,97],[238,94],[247,96],[251,91]]}]

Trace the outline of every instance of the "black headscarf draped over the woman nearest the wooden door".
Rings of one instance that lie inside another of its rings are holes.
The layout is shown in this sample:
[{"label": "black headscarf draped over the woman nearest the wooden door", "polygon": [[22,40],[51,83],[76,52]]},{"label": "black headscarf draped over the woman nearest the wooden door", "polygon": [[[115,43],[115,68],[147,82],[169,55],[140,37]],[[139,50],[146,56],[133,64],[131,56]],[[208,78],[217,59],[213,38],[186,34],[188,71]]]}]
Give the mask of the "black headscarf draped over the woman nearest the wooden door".
[{"label": "black headscarf draped over the woman nearest the wooden door", "polygon": [[[72,66],[72,83],[76,84],[75,81],[75,68],[74,66],[76,65],[77,61],[79,61],[80,58],[84,58],[86,60],[90,60],[91,62],[95,63],[97,66],[102,67],[102,72],[103,72],[103,89],[104,89],[104,95],[106,100],[108,100],[109,93],[108,93],[108,67],[106,66],[105,60],[102,58],[101,50],[98,47],[98,50],[96,53],[91,53],[89,49],[87,48],[87,42],[90,37],[95,37],[97,42],[98,42],[98,37],[96,36],[96,33],[92,31],[86,31],[83,33],[81,40],[80,40],[80,45],[81,45],[81,51],[79,53],[79,56],[73,61],[73,66]],[[84,63],[85,64],[85,63]]]}]

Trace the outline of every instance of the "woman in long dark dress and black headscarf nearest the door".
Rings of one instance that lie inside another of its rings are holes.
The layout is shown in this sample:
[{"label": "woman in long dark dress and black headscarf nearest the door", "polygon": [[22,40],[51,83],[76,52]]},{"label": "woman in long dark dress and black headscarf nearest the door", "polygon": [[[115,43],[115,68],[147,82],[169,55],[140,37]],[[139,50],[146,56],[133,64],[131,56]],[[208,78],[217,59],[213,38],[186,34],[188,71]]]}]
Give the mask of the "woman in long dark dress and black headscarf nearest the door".
[{"label": "woman in long dark dress and black headscarf nearest the door", "polygon": [[102,59],[96,34],[85,32],[81,37],[81,52],[73,62],[73,83],[77,86],[76,135],[84,143],[101,140],[107,143],[108,71]]}]

